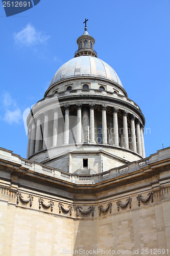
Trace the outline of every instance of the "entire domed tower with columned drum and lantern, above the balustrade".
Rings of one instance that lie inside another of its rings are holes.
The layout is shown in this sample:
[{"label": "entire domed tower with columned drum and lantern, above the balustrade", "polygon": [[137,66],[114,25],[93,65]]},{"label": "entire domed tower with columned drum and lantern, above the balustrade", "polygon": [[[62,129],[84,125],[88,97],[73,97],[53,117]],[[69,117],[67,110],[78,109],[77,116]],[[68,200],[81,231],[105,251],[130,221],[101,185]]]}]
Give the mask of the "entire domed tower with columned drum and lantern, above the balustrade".
[{"label": "entire domed tower with columned drum and lantern, above the balustrade", "polygon": [[27,119],[28,159],[68,173],[105,172],[145,157],[144,116],[87,32]]}]

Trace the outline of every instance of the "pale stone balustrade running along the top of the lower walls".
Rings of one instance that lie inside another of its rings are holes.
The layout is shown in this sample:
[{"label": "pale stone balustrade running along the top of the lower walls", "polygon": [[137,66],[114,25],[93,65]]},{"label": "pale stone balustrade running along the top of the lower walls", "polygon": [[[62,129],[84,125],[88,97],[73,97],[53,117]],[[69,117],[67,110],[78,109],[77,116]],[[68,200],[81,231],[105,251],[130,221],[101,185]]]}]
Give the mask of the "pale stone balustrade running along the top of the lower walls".
[{"label": "pale stone balustrade running along the top of the lower walls", "polygon": [[11,151],[5,150],[4,148],[0,148],[0,157],[2,164],[3,161],[6,163],[6,161],[9,161],[10,159],[10,162],[12,162],[14,166],[15,164],[17,164],[17,166],[20,165],[20,170],[22,170],[23,167],[25,167],[27,169],[27,172],[39,173],[40,175],[45,174],[49,177],[51,176],[75,184],[84,184],[84,182],[86,184],[96,184],[103,180],[109,180],[115,177],[133,173],[140,170],[144,166],[147,167],[150,164],[162,161],[163,159],[169,159],[169,156],[170,147],[164,148],[164,150],[160,150],[148,158],[140,159],[138,161],[134,161],[123,166],[115,167],[100,174],[77,175],[63,172],[60,169],[21,158],[20,156],[13,154]]}]

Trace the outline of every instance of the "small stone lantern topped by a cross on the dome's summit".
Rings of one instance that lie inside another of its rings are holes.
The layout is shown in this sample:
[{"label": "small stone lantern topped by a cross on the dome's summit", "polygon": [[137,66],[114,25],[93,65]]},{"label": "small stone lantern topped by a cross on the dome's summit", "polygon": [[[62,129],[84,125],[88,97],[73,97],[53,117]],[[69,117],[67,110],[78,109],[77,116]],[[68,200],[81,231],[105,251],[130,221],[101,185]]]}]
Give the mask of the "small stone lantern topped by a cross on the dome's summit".
[{"label": "small stone lantern topped by a cross on the dome's summit", "polygon": [[93,49],[94,45],[94,38],[88,34],[87,32],[87,23],[88,19],[85,19],[85,28],[84,33],[77,39],[78,44],[78,50],[75,52],[75,57],[81,56],[81,55],[91,55],[94,57],[98,57],[96,51]]}]

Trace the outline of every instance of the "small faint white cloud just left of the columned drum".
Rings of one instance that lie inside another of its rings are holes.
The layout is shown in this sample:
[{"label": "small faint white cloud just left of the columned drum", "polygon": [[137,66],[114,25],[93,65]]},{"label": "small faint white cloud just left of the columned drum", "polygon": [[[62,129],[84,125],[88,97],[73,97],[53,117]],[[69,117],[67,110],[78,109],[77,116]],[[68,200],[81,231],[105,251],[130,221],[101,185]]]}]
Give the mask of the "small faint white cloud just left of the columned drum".
[{"label": "small faint white cloud just left of the columned drum", "polygon": [[20,123],[22,119],[20,109],[15,109],[14,111],[7,110],[4,116],[4,121],[8,122],[9,124],[12,123]]}]

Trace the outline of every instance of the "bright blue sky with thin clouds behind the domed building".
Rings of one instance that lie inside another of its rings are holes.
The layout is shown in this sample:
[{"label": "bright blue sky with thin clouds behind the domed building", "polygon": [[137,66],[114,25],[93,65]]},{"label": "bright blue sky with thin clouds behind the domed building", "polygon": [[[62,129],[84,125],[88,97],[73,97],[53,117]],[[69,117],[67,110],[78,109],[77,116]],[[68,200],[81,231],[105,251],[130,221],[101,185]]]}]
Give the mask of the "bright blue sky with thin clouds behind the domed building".
[{"label": "bright blue sky with thin clouds behind the domed building", "polygon": [[[6,17],[1,2],[1,147],[26,157],[23,112],[74,57],[84,31],[145,116],[146,156],[170,146],[170,1],[45,1]],[[149,132],[151,130],[151,133]]]}]

